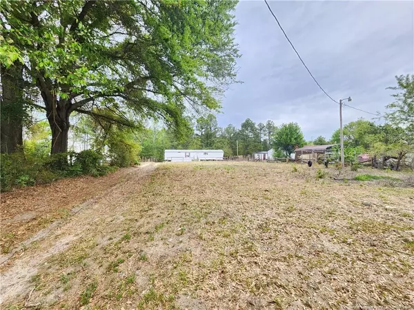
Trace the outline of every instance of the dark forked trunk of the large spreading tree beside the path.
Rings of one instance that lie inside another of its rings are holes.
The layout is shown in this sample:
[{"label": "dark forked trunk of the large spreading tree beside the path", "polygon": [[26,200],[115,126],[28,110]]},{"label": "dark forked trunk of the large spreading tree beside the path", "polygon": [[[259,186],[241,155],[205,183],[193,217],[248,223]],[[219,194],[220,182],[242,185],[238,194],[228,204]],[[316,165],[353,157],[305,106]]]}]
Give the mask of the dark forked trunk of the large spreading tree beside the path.
[{"label": "dark forked trunk of the large spreading tree beside the path", "polygon": [[68,152],[69,110],[67,105],[57,105],[55,113],[48,112],[48,121],[52,130],[51,154]]}]

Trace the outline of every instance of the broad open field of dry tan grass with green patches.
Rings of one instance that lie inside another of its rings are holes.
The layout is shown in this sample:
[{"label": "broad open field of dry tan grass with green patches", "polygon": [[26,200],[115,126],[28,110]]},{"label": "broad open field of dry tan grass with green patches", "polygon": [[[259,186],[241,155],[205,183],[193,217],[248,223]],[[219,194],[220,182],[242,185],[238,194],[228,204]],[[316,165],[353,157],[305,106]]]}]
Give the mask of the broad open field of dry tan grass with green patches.
[{"label": "broad open field of dry tan grass with green patches", "polygon": [[[413,309],[412,176],[320,171],[282,163],[125,169],[3,262],[2,306]],[[385,178],[352,180],[360,174]],[[33,204],[46,193],[37,189]],[[14,217],[7,204],[19,195],[2,200]],[[15,220],[12,229],[24,225]],[[8,242],[12,252],[20,240]]]}]

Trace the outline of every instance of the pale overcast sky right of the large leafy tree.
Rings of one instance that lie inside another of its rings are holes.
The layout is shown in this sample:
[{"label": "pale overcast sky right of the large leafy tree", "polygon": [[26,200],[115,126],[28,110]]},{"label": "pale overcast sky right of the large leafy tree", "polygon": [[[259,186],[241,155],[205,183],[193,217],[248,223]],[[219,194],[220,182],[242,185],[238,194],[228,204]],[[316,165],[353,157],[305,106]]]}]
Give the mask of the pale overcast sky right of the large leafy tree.
[{"label": "pale overcast sky right of the large leafy tree", "polygon": [[[270,1],[270,7],[319,84],[334,99],[370,112],[390,103],[395,75],[414,72],[413,1]],[[297,122],[307,140],[331,137],[338,105],[317,87],[286,41],[264,1],[240,1],[235,39],[242,57],[226,92],[222,127],[271,119]],[[348,107],[344,123],[365,114]]]}]

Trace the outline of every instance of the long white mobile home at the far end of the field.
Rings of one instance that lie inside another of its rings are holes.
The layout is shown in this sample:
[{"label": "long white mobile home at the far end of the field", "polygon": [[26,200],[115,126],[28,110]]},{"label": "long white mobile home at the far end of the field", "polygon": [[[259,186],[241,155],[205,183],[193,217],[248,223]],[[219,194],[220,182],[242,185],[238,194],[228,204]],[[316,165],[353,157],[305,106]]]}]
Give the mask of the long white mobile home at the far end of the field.
[{"label": "long white mobile home at the far end of the field", "polygon": [[222,161],[221,149],[166,149],[164,161]]}]

